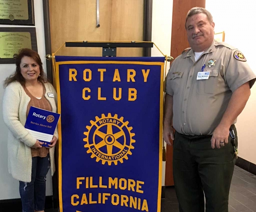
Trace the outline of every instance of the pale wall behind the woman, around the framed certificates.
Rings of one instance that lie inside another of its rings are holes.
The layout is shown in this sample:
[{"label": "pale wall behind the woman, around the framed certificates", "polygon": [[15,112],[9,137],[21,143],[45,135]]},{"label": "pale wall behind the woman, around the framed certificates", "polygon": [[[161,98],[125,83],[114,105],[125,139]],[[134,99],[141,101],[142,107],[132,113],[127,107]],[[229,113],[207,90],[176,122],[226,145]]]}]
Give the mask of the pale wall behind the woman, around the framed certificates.
[{"label": "pale wall behind the woman, around the framed certificates", "polygon": [[[34,1],[35,6],[35,27],[38,53],[42,59],[44,71],[46,72],[45,40],[44,40],[44,19],[42,0]],[[0,25],[0,27],[27,27],[27,26],[11,26]],[[20,198],[19,182],[14,180],[8,173],[8,155],[7,155],[7,137],[8,129],[2,118],[2,97],[4,89],[2,81],[15,71],[15,64],[0,64],[0,200]],[[46,181],[46,195],[52,195],[52,177],[50,170]]]}]

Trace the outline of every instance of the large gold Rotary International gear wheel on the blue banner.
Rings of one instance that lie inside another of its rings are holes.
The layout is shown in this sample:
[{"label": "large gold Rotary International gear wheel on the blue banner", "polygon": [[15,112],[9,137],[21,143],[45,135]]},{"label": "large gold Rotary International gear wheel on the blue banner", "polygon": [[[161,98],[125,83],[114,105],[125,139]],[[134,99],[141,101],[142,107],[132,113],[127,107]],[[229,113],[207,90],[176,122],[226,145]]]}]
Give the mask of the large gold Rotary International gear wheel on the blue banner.
[{"label": "large gold Rotary International gear wheel on the blue banner", "polygon": [[85,148],[87,153],[91,153],[91,158],[96,157],[96,162],[102,161],[102,164],[108,162],[115,165],[118,161],[123,163],[123,159],[128,160],[128,155],[132,155],[131,149],[135,143],[131,133],[132,127],[128,127],[129,122],[124,122],[124,118],[118,118],[115,114],[113,117],[110,113],[107,116],[102,114],[101,118],[95,117],[96,121],[90,121],[91,125],[86,126],[88,131],[84,132]]}]

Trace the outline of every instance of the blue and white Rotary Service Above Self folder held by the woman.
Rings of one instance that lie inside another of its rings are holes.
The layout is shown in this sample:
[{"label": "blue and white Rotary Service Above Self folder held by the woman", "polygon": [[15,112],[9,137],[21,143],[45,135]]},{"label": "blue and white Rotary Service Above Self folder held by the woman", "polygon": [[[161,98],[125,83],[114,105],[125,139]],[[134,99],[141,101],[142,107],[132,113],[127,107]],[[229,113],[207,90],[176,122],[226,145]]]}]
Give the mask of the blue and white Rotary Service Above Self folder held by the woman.
[{"label": "blue and white Rotary Service Above Self folder held by the woman", "polygon": [[51,144],[50,141],[52,140],[59,118],[60,114],[58,113],[37,107],[30,107],[24,127],[32,137],[44,143],[42,146],[48,147],[48,144]]}]

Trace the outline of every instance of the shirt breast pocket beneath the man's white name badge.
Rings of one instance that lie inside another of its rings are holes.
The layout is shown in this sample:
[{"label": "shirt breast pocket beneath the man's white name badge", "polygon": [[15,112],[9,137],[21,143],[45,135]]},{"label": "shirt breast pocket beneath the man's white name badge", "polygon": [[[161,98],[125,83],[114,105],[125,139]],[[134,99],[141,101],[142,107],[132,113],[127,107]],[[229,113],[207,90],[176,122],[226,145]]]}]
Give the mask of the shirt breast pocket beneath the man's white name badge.
[{"label": "shirt breast pocket beneath the man's white name badge", "polygon": [[204,69],[204,71],[210,71],[208,79],[197,80],[197,93],[201,95],[214,94],[218,86],[218,69]]}]

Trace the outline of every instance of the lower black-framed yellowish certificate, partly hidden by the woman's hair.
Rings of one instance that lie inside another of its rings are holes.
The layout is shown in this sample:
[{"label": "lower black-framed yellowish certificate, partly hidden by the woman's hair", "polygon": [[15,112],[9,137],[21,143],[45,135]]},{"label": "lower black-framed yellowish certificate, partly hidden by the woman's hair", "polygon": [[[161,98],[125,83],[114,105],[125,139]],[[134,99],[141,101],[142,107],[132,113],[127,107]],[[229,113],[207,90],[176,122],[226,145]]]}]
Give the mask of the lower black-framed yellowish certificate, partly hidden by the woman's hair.
[{"label": "lower black-framed yellowish certificate, partly hidden by the woman's hair", "polygon": [[0,27],[0,63],[15,63],[13,56],[22,48],[37,52],[36,28]]}]

